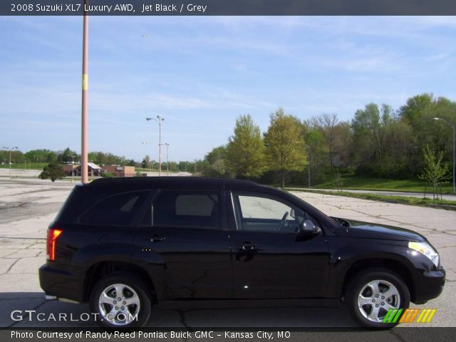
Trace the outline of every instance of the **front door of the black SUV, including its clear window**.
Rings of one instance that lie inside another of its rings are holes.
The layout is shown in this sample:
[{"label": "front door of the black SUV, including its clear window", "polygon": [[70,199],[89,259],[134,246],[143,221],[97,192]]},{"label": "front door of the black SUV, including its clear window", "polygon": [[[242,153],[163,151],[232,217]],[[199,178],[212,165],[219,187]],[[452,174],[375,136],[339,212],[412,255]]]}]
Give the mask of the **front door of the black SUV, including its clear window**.
[{"label": "front door of the black SUV, including its clear window", "polygon": [[[322,296],[328,281],[328,247],[318,222],[300,207],[260,192],[231,193],[236,227],[231,234],[234,297]],[[311,219],[318,233],[304,235]]]}]

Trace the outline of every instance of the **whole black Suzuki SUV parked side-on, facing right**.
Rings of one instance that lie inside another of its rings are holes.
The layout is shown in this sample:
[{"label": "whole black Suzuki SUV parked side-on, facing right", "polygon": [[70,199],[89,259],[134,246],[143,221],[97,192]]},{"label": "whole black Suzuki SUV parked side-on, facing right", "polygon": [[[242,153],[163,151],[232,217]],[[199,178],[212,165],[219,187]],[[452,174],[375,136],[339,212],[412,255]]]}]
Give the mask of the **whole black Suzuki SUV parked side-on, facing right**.
[{"label": "whole black Suzuki SUV parked side-on, facing right", "polygon": [[341,299],[363,326],[441,293],[422,235],[328,217],[254,182],[135,177],[77,185],[48,229],[48,299],[90,302],[98,323],[144,325],[177,299]]}]

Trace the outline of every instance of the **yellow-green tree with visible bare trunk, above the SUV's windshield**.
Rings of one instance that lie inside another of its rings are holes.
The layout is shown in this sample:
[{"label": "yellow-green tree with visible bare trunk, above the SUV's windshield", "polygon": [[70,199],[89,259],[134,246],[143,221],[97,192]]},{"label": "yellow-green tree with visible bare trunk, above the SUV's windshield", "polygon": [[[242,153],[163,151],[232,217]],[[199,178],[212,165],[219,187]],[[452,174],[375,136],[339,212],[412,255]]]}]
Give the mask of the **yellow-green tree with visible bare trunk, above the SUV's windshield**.
[{"label": "yellow-green tree with visible bare trunk, above the SUV's windshield", "polygon": [[279,108],[271,114],[264,143],[270,168],[280,172],[281,186],[285,187],[286,172],[302,171],[307,165],[303,125]]}]

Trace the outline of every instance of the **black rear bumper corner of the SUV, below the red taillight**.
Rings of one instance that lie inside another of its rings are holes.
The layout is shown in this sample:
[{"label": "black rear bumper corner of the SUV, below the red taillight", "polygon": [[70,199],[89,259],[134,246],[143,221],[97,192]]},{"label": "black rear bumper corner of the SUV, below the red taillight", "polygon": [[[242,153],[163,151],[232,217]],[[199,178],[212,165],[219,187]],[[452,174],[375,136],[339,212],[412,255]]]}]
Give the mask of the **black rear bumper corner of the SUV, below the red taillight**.
[{"label": "black rear bumper corner of the SUV, below the red taillight", "polygon": [[56,297],[77,302],[84,300],[83,280],[77,274],[45,264],[38,269],[38,276],[46,298]]}]

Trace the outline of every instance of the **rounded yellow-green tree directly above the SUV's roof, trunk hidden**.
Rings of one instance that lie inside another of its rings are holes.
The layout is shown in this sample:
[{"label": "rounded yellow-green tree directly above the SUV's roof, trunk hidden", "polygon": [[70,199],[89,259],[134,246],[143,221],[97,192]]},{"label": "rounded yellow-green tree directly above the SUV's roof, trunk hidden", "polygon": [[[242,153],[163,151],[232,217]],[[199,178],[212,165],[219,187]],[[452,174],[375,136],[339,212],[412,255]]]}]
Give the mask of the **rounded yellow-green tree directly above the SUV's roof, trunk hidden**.
[{"label": "rounded yellow-green tree directly above the SUV's roof, trunk hidden", "polygon": [[236,177],[257,178],[266,170],[264,142],[259,126],[250,115],[236,119],[234,135],[227,145],[227,164]]}]

